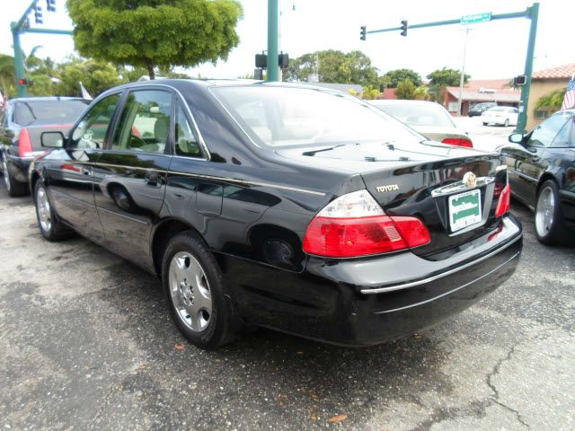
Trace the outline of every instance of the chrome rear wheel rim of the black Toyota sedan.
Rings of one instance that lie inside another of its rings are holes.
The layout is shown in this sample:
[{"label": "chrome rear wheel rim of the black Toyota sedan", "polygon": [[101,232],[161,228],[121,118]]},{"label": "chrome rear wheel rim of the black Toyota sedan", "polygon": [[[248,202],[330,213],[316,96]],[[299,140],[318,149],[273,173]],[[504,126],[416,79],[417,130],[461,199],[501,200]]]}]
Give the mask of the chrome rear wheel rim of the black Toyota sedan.
[{"label": "chrome rear wheel rim of the black Toyota sedan", "polygon": [[204,268],[187,251],[170,262],[170,295],[176,314],[190,330],[205,330],[212,316],[212,295]]}]

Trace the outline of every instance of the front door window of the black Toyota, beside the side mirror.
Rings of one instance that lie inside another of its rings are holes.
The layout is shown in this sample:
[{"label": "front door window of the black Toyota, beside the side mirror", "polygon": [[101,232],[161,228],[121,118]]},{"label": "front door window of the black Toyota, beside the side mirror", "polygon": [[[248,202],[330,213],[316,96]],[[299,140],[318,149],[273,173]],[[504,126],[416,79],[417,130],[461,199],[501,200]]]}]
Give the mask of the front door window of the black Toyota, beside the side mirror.
[{"label": "front door window of the black Toyota, beside the side mirror", "polygon": [[72,133],[70,148],[103,148],[119,96],[111,94],[93,105]]}]

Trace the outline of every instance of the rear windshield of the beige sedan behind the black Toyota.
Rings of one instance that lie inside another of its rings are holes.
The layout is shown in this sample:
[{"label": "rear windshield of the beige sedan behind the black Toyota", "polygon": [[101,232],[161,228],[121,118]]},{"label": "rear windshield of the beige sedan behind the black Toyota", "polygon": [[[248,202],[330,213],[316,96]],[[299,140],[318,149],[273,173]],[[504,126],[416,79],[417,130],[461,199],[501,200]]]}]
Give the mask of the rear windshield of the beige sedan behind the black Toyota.
[{"label": "rear windshield of the beige sedan behind the black Toyota", "polygon": [[446,110],[434,103],[421,105],[418,103],[390,103],[376,104],[376,107],[411,127],[456,127]]}]

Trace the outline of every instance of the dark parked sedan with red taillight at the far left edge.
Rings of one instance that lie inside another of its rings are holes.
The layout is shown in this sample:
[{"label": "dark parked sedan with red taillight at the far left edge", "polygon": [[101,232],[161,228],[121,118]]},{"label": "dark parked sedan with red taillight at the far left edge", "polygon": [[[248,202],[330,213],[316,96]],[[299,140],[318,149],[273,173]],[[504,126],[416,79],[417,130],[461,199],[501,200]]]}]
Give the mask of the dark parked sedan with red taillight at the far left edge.
[{"label": "dark parked sedan with red taillight at the far left edge", "polygon": [[47,149],[40,144],[43,131],[66,131],[90,101],[70,97],[13,99],[0,114],[0,159],[4,184],[10,196],[28,190],[28,168]]}]

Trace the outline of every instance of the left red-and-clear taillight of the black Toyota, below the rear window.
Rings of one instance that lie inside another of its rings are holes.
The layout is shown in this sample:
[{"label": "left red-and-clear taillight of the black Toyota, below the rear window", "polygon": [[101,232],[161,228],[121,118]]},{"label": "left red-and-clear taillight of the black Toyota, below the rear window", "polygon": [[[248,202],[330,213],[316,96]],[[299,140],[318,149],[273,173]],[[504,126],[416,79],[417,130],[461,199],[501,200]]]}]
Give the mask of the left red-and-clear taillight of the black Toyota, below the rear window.
[{"label": "left red-and-clear taillight of the black Toyota, below the rear window", "polygon": [[335,199],[307,226],[304,251],[351,258],[399,251],[429,243],[419,218],[386,216],[367,190]]}]

